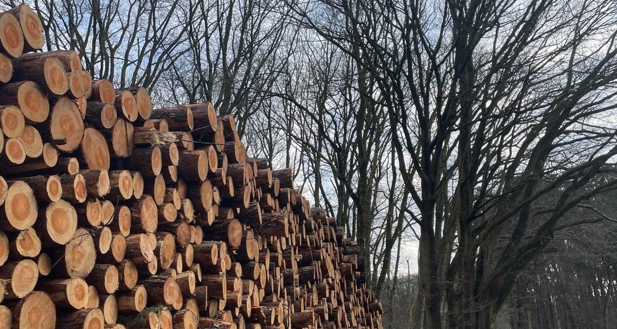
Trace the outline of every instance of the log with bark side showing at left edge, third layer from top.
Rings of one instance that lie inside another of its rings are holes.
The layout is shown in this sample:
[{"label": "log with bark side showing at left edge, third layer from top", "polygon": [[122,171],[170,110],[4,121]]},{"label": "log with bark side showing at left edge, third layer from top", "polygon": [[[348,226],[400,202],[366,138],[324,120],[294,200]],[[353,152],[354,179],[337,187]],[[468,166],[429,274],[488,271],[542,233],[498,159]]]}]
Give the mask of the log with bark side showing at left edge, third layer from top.
[{"label": "log with bark side showing at left edge, third layer from top", "polygon": [[0,86],[0,104],[19,106],[27,123],[44,122],[49,116],[46,92],[33,81]]}]

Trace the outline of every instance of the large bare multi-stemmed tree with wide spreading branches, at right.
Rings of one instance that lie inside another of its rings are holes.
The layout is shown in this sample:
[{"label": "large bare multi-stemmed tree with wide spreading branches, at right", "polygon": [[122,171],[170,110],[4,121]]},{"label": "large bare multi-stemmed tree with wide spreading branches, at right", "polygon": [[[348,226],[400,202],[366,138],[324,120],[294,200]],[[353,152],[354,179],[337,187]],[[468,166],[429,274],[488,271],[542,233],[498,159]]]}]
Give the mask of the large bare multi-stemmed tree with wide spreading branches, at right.
[{"label": "large bare multi-stemmed tree with wide spreading branches, at right", "polygon": [[[615,3],[289,5],[387,109],[420,230],[415,327],[490,328],[563,215],[617,185],[581,193],[617,154]],[[558,198],[539,206],[549,191]]]}]

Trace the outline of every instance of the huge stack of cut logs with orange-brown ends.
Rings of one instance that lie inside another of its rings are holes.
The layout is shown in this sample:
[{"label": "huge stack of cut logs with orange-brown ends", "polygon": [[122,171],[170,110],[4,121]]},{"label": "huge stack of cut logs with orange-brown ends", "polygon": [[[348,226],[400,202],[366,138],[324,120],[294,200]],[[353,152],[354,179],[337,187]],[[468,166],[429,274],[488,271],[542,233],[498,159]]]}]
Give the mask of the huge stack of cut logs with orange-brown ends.
[{"label": "huge stack of cut logs with orange-brown ends", "polygon": [[0,15],[0,328],[381,328],[361,249],[230,115],[43,42]]}]

